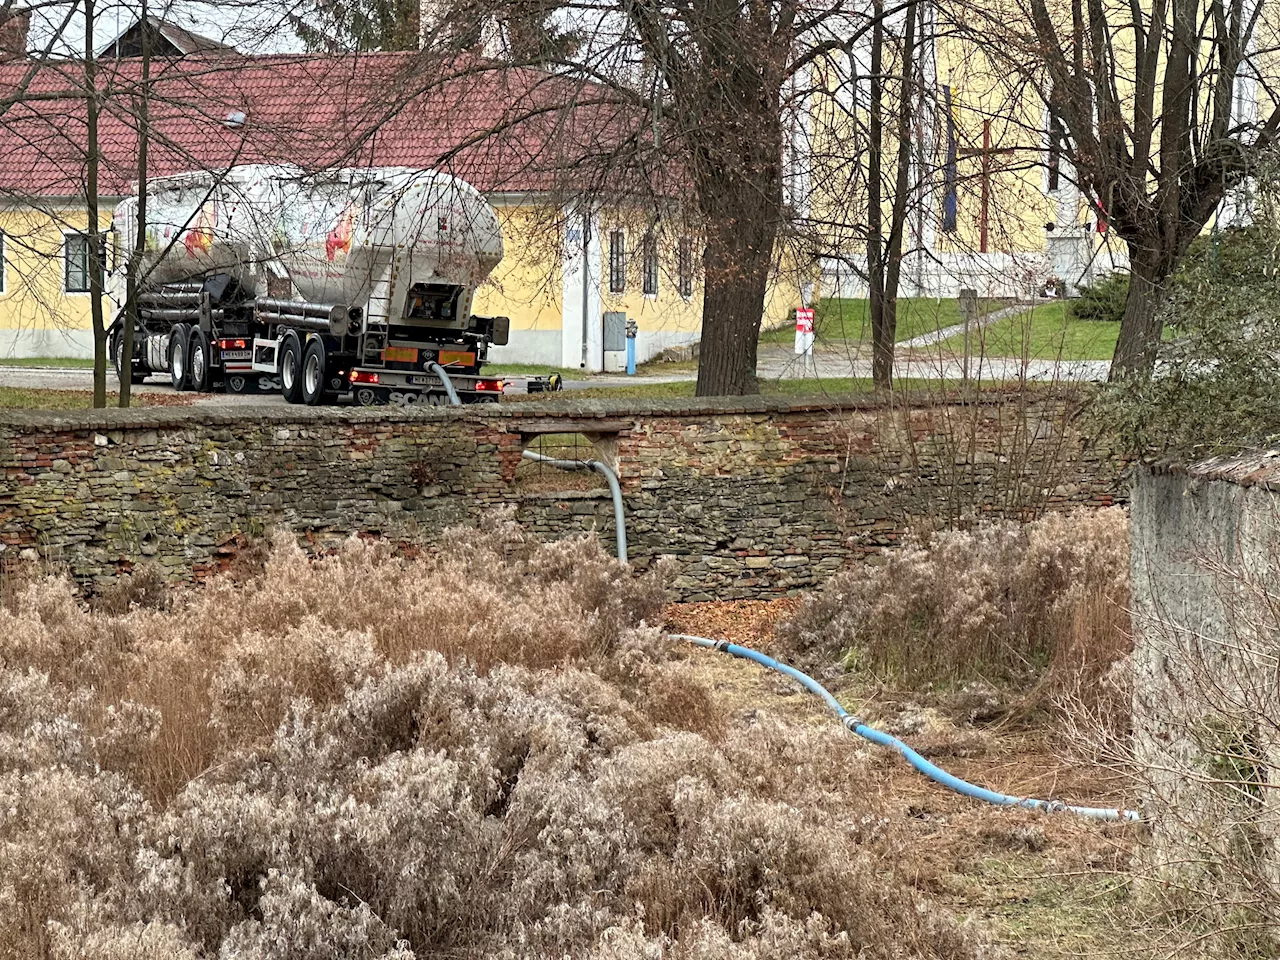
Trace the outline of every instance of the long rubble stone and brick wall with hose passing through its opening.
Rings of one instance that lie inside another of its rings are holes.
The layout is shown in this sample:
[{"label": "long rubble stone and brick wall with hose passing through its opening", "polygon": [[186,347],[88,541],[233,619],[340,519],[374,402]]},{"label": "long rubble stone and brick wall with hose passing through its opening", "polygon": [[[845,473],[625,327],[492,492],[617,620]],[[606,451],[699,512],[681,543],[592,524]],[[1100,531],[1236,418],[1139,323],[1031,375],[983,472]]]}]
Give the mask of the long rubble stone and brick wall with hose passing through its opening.
[{"label": "long rubble stone and brick wall with hose passing through its opening", "polygon": [[620,475],[637,566],[675,556],[685,598],[776,595],[913,525],[1123,502],[1125,465],[1080,436],[1075,412],[1047,393],[14,411],[0,413],[0,544],[90,586],[147,558],[202,577],[278,525],[321,544],[438,543],[499,504],[548,538],[598,529],[612,544],[603,489],[529,489],[517,472],[539,435],[585,434]]}]

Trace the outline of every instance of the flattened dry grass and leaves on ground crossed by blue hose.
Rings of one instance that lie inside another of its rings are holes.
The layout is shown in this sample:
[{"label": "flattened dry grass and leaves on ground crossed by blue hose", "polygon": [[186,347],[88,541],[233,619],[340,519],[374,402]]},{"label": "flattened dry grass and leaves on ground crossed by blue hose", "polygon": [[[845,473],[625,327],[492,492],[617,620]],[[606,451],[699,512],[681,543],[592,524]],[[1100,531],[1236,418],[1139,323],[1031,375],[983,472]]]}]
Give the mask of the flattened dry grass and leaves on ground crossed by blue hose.
[{"label": "flattened dry grass and leaves on ground crossed by blue hose", "polygon": [[[751,604],[745,611],[748,627],[736,639],[749,643],[760,625],[783,620],[792,607]],[[737,603],[681,604],[668,609],[668,621],[690,632],[701,626],[701,632],[716,636],[707,627],[733,620],[739,609]],[[832,726],[817,698],[749,663],[694,650],[686,667],[732,707],[735,722],[783,717],[814,731]],[[1051,726],[1011,731],[974,723],[959,709],[957,695],[892,691],[854,675],[829,678],[828,685],[876,726],[905,736],[973,782],[1082,803],[1132,800],[1126,781],[1064,754]],[[996,809],[941,788],[890,751],[865,746],[863,755],[865,765],[856,780],[842,785],[844,796],[873,803],[891,824],[887,828],[902,837],[901,868],[922,893],[987,931],[1009,955],[1037,960],[1142,955],[1137,946],[1147,931],[1128,883],[1139,836],[1133,828]]]}]

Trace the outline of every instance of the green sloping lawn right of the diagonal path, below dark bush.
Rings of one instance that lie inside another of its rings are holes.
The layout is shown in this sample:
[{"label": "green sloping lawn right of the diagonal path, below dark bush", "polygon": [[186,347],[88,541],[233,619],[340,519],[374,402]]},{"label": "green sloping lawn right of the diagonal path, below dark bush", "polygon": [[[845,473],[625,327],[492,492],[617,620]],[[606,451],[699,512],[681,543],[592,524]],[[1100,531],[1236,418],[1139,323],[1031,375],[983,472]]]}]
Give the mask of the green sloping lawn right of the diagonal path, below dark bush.
[{"label": "green sloping lawn right of the diagonal path, below dark bush", "polygon": [[[1029,360],[1111,360],[1119,334],[1120,324],[1076,320],[1069,303],[1052,301],[972,333],[969,352]],[[964,337],[943,340],[940,348],[959,356]]]}]

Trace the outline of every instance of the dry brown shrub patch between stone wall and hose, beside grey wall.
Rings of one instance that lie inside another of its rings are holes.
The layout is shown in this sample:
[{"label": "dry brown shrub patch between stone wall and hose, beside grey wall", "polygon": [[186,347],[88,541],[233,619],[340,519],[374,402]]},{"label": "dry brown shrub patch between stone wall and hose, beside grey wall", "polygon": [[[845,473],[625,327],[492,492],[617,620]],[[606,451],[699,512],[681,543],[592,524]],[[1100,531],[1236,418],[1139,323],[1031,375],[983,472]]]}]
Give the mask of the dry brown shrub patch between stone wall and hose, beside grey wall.
[{"label": "dry brown shrub patch between stone wall and hose, beside grey wall", "polygon": [[1052,686],[1101,676],[1129,649],[1123,509],[1051,513],[910,536],[881,566],[833,577],[780,639],[905,682]]}]

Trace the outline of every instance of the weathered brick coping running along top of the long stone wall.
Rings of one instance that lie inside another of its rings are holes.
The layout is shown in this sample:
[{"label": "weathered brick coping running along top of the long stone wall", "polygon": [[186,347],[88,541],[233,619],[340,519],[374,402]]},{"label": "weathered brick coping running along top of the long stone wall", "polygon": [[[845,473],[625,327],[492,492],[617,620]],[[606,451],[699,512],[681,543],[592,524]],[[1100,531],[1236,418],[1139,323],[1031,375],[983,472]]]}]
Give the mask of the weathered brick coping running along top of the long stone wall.
[{"label": "weathered brick coping running along top of the long stone wall", "polygon": [[[1050,398],[1048,390],[1037,394]],[[844,394],[820,397],[704,397],[666,399],[584,399],[571,398],[538,401],[532,403],[475,403],[463,407],[307,407],[279,403],[246,403],[219,407],[198,403],[177,407],[104,407],[99,410],[0,410],[0,428],[18,431],[32,430],[155,430],[188,425],[234,426],[255,422],[385,422],[406,424],[417,421],[492,421],[536,420],[556,416],[566,420],[608,420],[648,417],[703,417],[717,415],[785,415],[841,411],[868,411],[897,407],[900,410],[925,410],[940,406],[998,404],[1009,396],[986,392],[977,398],[959,394],[941,394],[929,398],[879,397],[869,394]]]}]

